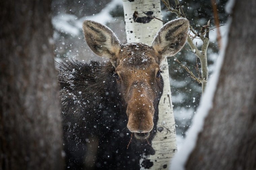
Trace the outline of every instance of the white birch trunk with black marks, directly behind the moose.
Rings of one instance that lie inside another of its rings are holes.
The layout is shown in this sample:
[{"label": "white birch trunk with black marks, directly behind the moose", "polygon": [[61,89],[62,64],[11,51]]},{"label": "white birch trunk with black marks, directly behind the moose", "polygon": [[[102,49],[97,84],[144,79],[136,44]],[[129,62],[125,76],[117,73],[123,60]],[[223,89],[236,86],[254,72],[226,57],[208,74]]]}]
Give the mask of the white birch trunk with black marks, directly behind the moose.
[{"label": "white birch trunk with black marks, directly behind the moose", "polygon": [[[127,43],[142,42],[151,46],[151,42],[163,23],[143,14],[142,11],[162,19],[160,1],[155,0],[123,0],[125,14],[125,32]],[[167,58],[162,61],[161,74],[164,80],[163,95],[159,103],[159,120],[157,134],[152,142],[155,155],[149,157],[153,166],[150,169],[167,168],[171,158],[177,151],[175,121],[172,109],[169,70]],[[142,160],[140,161],[142,162]],[[145,167],[141,167],[145,169]]]}]

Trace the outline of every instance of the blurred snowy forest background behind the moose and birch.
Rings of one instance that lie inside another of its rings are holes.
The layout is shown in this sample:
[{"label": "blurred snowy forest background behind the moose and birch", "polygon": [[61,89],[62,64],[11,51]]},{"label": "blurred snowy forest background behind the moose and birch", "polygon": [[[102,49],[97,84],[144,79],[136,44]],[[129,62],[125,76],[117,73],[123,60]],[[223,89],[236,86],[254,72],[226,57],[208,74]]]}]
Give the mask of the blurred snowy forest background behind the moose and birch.
[{"label": "blurred snowy forest background behind the moose and birch", "polygon": [[[216,0],[219,12],[220,25],[227,22],[228,14],[225,12],[226,0]],[[214,17],[211,1],[186,0],[180,1],[184,5],[183,10],[190,24],[200,30],[200,26],[206,25],[207,20],[211,20],[211,27],[214,28]],[[170,1],[174,4],[174,1]],[[162,4],[163,20],[175,19],[176,15],[166,12]],[[122,0],[53,0],[52,2],[54,26],[54,42],[56,59],[77,57],[81,60],[98,60],[103,58],[94,54],[87,46],[82,32],[82,23],[86,19],[105,24],[117,35],[122,43],[126,43],[124,13]],[[227,34],[227,26],[220,27],[222,36]],[[210,44],[207,51],[209,78],[215,71],[215,63],[218,58],[218,45],[216,42],[216,29],[210,31]],[[201,46],[199,39],[194,39],[197,46]],[[175,55],[184,65],[186,65],[195,75],[196,56],[188,50],[186,44],[182,51]],[[201,85],[194,82],[180,66],[173,60],[168,59],[170,84],[172,92],[172,102],[177,128],[178,150],[182,146],[187,130],[190,127],[191,119],[196,114],[196,109],[201,96]],[[199,61],[199,59],[198,59]]]}]

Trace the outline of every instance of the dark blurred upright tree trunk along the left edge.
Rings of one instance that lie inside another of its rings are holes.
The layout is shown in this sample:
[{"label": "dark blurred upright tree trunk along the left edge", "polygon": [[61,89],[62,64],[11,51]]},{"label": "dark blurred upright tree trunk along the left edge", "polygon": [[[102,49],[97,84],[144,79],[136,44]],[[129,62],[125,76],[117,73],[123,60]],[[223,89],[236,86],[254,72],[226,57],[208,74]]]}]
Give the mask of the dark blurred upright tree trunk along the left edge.
[{"label": "dark blurred upright tree trunk along the left edge", "polygon": [[0,6],[0,170],[62,169],[51,2]]}]

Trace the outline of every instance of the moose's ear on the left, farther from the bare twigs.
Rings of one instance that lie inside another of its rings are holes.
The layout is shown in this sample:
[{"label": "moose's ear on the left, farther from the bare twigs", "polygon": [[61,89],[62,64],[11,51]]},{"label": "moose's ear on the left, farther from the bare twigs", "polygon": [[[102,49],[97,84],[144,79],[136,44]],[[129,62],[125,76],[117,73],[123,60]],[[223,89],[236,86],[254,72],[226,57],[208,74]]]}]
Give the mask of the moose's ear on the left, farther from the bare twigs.
[{"label": "moose's ear on the left, farther from the bare twigs", "polygon": [[99,56],[109,58],[114,65],[121,46],[113,31],[97,22],[85,20],[83,32],[91,50]]}]

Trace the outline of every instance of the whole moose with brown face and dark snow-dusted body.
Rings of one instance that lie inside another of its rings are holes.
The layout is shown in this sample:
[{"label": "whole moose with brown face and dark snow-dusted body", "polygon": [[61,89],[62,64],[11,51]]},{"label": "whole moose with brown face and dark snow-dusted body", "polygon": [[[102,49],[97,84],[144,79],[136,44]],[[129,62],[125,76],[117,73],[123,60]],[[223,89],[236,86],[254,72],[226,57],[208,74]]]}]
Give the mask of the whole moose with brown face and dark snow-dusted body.
[{"label": "whole moose with brown face and dark snow-dusted body", "polygon": [[84,21],[88,46],[109,60],[57,63],[66,169],[140,169],[141,157],[155,154],[160,63],[184,46],[188,27],[186,18],[172,20],[148,46],[122,44],[108,27]]}]

